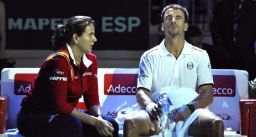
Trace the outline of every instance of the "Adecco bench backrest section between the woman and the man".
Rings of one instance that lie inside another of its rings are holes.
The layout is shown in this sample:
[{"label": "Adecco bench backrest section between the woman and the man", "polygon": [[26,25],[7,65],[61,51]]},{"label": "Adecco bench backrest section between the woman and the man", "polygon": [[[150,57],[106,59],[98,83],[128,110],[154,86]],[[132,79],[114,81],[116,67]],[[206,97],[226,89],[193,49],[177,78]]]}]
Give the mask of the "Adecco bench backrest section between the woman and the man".
[{"label": "Adecco bench backrest section between the woman and the man", "polygon": [[103,114],[115,118],[119,111],[136,103],[138,73],[139,69],[98,69]]}]

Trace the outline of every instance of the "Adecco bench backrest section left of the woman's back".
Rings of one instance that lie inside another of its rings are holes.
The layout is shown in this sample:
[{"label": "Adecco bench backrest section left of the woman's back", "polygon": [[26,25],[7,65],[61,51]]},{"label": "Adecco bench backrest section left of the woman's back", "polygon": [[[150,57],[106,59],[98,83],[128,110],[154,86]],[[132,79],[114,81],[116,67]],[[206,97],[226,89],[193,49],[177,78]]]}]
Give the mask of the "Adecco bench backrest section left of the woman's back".
[{"label": "Adecco bench backrest section left of the woman's back", "polygon": [[1,72],[1,96],[9,97],[8,128],[16,127],[16,117],[20,102],[27,90],[32,87],[39,68],[4,68]]}]

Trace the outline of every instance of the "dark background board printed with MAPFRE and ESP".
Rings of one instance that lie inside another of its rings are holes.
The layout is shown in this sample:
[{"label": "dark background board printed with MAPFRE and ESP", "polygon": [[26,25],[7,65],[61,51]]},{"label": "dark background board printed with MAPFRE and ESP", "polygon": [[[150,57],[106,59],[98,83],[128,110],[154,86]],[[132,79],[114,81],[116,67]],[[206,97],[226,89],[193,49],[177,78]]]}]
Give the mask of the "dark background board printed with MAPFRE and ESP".
[{"label": "dark background board printed with MAPFRE and ESP", "polygon": [[52,49],[53,29],[74,15],[86,15],[95,20],[98,41],[93,49],[148,49],[150,1],[3,1],[7,49]]}]

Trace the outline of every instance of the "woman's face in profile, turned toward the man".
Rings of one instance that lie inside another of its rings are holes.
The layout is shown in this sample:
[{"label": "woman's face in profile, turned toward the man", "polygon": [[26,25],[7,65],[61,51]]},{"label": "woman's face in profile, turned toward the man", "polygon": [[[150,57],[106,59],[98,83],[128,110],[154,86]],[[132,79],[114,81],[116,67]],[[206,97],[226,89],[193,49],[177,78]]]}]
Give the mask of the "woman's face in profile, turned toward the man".
[{"label": "woman's face in profile, turned toward the man", "polygon": [[97,41],[95,34],[94,25],[91,23],[85,28],[85,31],[78,39],[77,47],[82,50],[83,52],[92,52],[92,47],[94,42]]}]

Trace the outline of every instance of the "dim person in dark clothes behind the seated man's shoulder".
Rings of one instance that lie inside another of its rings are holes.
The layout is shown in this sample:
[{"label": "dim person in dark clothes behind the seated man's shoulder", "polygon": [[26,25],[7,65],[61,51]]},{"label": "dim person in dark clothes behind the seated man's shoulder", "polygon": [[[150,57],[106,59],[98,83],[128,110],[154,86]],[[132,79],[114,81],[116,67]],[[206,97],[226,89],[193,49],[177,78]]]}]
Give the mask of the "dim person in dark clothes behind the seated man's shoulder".
[{"label": "dim person in dark clothes behind the seated man's shoulder", "polygon": [[223,61],[223,58],[225,58],[224,52],[213,45],[203,43],[203,34],[199,28],[196,26],[189,26],[185,32],[185,40],[190,44],[207,51],[211,61],[211,68],[227,68],[228,63]]}]

